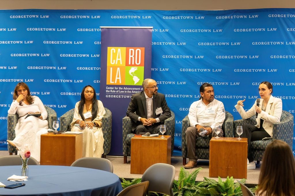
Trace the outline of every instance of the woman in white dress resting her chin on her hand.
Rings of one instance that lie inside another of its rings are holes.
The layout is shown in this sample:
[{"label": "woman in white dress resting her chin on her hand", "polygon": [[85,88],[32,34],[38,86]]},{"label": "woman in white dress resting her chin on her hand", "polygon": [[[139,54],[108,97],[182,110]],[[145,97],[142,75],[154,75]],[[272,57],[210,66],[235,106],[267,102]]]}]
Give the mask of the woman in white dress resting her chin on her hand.
[{"label": "woman in white dress resting her chin on her hand", "polygon": [[[40,138],[41,134],[47,133],[47,112],[42,101],[37,96],[31,96],[29,87],[20,82],[14,88],[13,102],[8,114],[17,113],[19,120],[15,127],[15,138],[9,144],[24,149],[27,145],[31,156],[40,162]],[[39,117],[28,116],[28,114],[41,114]]]}]

